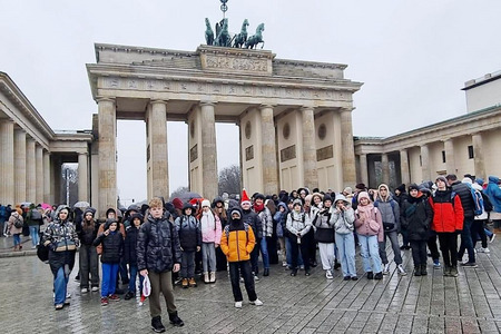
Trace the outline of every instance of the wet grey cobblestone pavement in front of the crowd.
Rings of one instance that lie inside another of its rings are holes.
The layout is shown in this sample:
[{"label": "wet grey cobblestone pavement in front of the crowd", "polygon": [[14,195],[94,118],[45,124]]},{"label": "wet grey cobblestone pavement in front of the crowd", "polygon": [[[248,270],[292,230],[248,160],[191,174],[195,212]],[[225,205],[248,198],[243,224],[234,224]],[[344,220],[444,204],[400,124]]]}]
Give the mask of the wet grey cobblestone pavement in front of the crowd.
[{"label": "wet grey cobblestone pavement in front of the crowd", "polygon": [[[460,268],[458,278],[443,277],[431,264],[428,276],[412,276],[410,250],[403,252],[409,275],[399,276],[392,263],[380,282],[344,282],[338,271],[327,281],[320,267],[312,276],[291,277],[272,265],[271,276],[256,283],[264,306],[244,301],[242,310],[234,308],[228,276],[219,272],[214,285],[176,287],[184,327],[168,325],[164,302],[163,318],[167,333],[500,333],[498,242],[490,244],[491,254],[478,254],[479,268]],[[0,247],[6,243],[11,238],[2,238]],[[80,294],[78,268],[69,283],[71,305],[55,311],[48,265],[36,256],[6,255],[0,258],[1,333],[153,333],[148,304],[122,299],[101,307],[99,293]],[[360,257],[357,265],[362,276]]]}]

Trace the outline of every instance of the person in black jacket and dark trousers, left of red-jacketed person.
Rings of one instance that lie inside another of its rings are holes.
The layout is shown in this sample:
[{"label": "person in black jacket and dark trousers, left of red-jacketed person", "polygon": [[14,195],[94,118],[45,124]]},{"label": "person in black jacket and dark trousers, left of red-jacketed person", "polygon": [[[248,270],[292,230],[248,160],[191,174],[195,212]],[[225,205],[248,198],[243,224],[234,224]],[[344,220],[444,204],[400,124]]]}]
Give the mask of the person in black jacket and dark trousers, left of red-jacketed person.
[{"label": "person in black jacket and dark trousers, left of red-jacketed person", "polygon": [[402,203],[400,222],[406,228],[411,242],[414,276],[428,275],[426,242],[433,219],[433,209],[416,184],[409,186],[409,194],[411,196]]}]

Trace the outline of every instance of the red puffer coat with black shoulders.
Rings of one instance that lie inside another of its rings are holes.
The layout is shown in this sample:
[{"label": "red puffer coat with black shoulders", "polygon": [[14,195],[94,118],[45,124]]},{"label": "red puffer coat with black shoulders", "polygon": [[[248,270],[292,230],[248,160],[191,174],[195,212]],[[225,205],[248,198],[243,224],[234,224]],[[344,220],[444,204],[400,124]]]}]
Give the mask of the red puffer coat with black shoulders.
[{"label": "red puffer coat with black shoulders", "polygon": [[461,198],[458,194],[454,198],[451,197],[451,189],[436,190],[435,194],[430,197],[430,204],[433,207],[432,229],[434,232],[453,233],[463,229],[464,215]]}]

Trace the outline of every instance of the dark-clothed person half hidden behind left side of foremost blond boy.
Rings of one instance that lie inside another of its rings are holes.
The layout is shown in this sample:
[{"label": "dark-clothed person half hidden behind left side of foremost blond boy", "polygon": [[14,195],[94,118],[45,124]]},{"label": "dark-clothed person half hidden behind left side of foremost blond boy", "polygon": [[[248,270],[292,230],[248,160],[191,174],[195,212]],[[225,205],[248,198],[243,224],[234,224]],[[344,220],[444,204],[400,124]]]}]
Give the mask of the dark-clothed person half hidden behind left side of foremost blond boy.
[{"label": "dark-clothed person half hidden behind left side of foremost blond boy", "polygon": [[[137,236],[139,235],[139,228],[143,224],[143,215],[134,213],[129,216],[130,226],[127,227],[127,235],[124,245],[124,261],[129,265],[130,281],[129,291],[125,295],[125,299],[128,301],[136,296],[136,277],[139,272],[137,271]],[[143,291],[143,281],[145,277],[139,275],[139,292]]]}]

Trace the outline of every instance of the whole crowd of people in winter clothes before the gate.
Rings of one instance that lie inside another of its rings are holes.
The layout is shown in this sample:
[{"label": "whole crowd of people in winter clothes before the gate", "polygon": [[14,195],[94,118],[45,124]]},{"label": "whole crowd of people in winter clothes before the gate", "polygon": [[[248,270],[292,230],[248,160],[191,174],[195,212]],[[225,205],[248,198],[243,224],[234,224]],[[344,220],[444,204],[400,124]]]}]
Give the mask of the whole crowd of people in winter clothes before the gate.
[{"label": "whole crowd of people in winter clothes before the gate", "polygon": [[[411,249],[413,275],[428,275],[431,255],[432,266],[443,267],[443,276],[456,277],[458,264],[475,268],[475,253],[489,253],[488,243],[495,234],[487,228],[488,223],[493,222],[495,227],[501,224],[498,177],[484,183],[470,175],[462,181],[448,175],[436,177],[434,183],[411,184],[407,189],[401,185],[391,190],[386,184],[376,189],[357,184],[354,190],[346,187],[338,193],[299,188],[249,196],[244,189],[239,198],[212,202],[174,198],[166,203],[154,198],[148,205],[131,205],[124,212],[109,208],[101,220],[91,207],[1,206],[0,223],[7,223],[4,235],[13,236],[14,250],[21,247],[19,235],[26,225],[32,246],[40,243],[48,248],[56,310],[69,304],[67,285],[78,252],[82,294],[100,291],[102,306],[120,301],[119,295],[126,301],[137,296],[139,303],[148,297],[151,327],[163,332],[160,292],[169,322],[181,326],[173,284],[183,288],[196,287],[199,279],[215,284],[219,271],[229,272],[235,307],[242,308],[240,283],[249,303],[263,305],[255,281],[273,275],[273,264],[282,264],[291,276],[299,271],[306,276],[317,274],[313,268],[321,265],[326,279],[333,279],[334,271],[341,268],[344,281],[357,281],[362,274],[356,271],[360,247],[363,275],[382,279],[392,262],[399,275],[407,275],[402,252]],[[43,224],[47,228],[39,240],[38,228]],[[392,259],[386,254],[387,240]],[[477,249],[478,240],[481,247]],[[120,288],[120,281],[126,289]],[[143,293],[145,286],[149,296]]]}]

